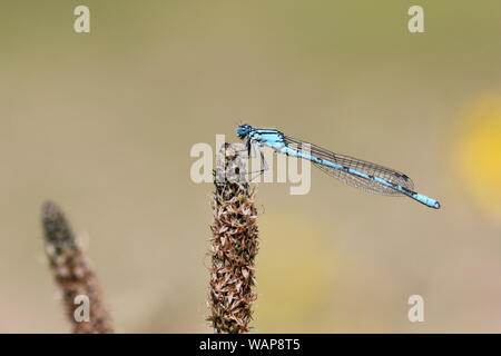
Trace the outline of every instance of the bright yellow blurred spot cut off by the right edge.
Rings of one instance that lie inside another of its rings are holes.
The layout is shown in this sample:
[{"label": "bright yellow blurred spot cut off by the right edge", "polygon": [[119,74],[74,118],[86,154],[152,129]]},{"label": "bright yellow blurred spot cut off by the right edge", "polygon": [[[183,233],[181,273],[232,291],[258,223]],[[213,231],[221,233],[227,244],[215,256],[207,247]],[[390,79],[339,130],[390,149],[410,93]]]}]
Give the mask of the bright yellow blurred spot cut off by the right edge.
[{"label": "bright yellow blurred spot cut off by the right edge", "polygon": [[482,98],[470,110],[460,136],[456,162],[482,211],[501,218],[501,96]]}]

